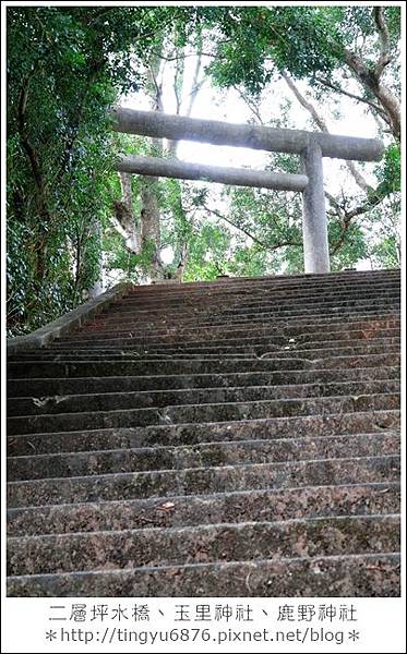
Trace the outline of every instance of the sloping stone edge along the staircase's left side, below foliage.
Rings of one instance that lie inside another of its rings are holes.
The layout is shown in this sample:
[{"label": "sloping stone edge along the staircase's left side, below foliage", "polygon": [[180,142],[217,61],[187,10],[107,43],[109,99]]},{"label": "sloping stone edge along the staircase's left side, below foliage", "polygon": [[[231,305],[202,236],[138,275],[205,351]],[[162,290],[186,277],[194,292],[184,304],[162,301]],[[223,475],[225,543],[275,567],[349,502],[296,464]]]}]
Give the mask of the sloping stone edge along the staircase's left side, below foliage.
[{"label": "sloping stone edge along the staircase's left side, below foliage", "polygon": [[88,300],[84,304],[80,304],[76,308],[63,314],[56,320],[44,325],[39,329],[27,334],[26,336],[17,336],[7,340],[7,353],[13,354],[21,350],[32,348],[43,348],[52,342],[56,338],[63,334],[73,331],[76,327],[84,325],[94,318],[104,308],[109,306],[116,300],[119,300],[134,288],[132,282],[120,282],[108,289],[93,300]]}]

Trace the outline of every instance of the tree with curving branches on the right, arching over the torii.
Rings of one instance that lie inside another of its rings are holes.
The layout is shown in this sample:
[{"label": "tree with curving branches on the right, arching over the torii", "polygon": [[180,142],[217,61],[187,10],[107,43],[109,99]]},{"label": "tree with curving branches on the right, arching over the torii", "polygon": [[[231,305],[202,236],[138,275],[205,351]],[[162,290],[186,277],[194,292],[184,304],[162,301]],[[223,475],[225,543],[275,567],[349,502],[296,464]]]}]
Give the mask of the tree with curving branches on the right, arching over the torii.
[{"label": "tree with curving branches on the right, arching over the torii", "polygon": [[[382,205],[385,220],[385,201],[399,192],[399,8],[232,8],[204,13],[203,22],[216,25],[223,37],[213,49],[208,70],[217,84],[239,90],[255,122],[264,124],[259,97],[278,78],[285,80],[309,112],[314,129],[330,131],[316,102],[334,105],[338,97],[351,98],[373,114],[379,136],[387,145],[384,160],[376,167],[376,185],[347,162],[362,193],[345,197],[327,194],[331,254],[339,256],[348,245],[355,256],[360,254],[363,247],[355,219]],[[308,97],[298,83],[304,81]],[[396,243],[394,225],[391,242]]]}]

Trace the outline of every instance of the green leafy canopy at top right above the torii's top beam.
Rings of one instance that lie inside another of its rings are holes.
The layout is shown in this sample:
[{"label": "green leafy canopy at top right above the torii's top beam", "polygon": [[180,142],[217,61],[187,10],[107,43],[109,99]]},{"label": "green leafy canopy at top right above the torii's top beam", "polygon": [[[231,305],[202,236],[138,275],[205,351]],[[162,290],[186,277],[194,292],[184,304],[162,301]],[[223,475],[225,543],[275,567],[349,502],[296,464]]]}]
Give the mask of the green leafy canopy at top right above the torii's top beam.
[{"label": "green leafy canopy at top right above the torii's top beam", "polygon": [[[219,86],[242,84],[258,95],[273,73],[289,71],[297,80],[330,77],[345,63],[345,50],[363,43],[369,57],[380,45],[371,7],[202,8],[202,24],[219,32],[216,57],[208,66]],[[391,50],[400,35],[399,8],[384,8]]]}]

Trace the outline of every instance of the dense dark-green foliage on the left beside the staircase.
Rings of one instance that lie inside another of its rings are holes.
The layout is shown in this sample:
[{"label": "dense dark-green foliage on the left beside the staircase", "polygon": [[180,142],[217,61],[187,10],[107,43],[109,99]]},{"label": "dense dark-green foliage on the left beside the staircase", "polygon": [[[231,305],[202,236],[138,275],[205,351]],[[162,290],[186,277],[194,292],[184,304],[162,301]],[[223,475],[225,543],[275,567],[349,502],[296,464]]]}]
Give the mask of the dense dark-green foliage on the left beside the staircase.
[{"label": "dense dark-green foliage on the left beside the staircase", "polygon": [[[182,12],[8,8],[8,289],[11,334],[81,302],[99,275],[117,189],[106,109]],[[132,57],[130,53],[132,52]]]}]

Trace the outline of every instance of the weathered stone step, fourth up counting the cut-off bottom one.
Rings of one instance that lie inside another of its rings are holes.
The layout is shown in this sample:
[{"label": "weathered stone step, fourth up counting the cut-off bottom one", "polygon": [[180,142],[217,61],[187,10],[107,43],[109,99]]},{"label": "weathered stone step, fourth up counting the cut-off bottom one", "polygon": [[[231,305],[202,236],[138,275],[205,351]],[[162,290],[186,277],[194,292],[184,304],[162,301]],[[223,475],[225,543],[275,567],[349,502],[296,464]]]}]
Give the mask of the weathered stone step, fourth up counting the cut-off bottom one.
[{"label": "weathered stone step, fourth up counting the cut-off bottom one", "polygon": [[399,463],[387,455],[9,482],[8,507],[398,482]]}]

